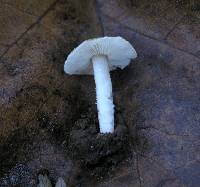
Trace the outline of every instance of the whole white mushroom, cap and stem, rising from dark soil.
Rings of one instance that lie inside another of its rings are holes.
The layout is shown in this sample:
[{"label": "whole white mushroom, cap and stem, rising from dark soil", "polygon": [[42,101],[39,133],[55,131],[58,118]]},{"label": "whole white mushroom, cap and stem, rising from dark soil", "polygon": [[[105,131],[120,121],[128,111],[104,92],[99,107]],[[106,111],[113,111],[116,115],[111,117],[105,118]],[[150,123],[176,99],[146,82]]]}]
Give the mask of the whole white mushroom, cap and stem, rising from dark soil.
[{"label": "whole white mushroom, cap and stem, rising from dark soil", "polygon": [[132,45],[121,37],[86,40],[67,57],[67,74],[94,74],[100,133],[114,131],[114,105],[110,70],[123,69],[137,57]]}]

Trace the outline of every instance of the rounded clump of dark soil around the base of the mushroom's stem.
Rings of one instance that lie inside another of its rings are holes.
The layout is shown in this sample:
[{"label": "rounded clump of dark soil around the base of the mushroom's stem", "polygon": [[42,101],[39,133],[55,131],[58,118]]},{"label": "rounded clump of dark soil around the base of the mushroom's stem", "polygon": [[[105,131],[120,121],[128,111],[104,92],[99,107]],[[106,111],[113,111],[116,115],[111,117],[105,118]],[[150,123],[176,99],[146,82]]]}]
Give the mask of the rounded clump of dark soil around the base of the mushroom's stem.
[{"label": "rounded clump of dark soil around the base of the mushroom's stem", "polygon": [[[97,116],[91,110],[76,121],[70,136],[68,151],[89,176],[101,179],[130,153],[128,129],[116,120],[113,134],[100,134]],[[86,173],[85,173],[86,174]]]}]

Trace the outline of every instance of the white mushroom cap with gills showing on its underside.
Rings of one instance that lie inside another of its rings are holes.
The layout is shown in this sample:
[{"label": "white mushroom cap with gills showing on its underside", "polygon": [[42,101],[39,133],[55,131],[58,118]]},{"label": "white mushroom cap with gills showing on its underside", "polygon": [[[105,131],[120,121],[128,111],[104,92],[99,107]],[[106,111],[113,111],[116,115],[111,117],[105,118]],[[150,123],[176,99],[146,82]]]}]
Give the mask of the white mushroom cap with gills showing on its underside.
[{"label": "white mushroom cap with gills showing on its underside", "polygon": [[110,70],[125,68],[137,57],[132,45],[120,36],[86,40],[67,57],[64,71],[67,74],[93,74],[92,57],[105,56]]}]

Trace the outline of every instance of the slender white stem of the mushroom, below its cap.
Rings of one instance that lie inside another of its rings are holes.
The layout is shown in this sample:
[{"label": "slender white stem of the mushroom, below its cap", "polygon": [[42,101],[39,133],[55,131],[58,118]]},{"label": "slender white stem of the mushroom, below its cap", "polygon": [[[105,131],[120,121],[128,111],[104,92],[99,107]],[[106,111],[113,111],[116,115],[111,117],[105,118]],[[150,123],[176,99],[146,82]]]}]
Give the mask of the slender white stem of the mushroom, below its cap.
[{"label": "slender white stem of the mushroom, below its cap", "polygon": [[112,96],[112,82],[109,66],[105,56],[92,58],[100,133],[114,131],[114,105]]}]

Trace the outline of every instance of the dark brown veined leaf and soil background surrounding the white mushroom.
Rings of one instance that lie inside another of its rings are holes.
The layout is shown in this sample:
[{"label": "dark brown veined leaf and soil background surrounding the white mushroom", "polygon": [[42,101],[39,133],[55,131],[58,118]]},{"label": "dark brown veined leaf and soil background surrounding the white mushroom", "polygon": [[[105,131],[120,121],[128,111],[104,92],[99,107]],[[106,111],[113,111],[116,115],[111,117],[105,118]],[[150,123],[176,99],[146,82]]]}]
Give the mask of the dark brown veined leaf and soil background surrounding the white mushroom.
[{"label": "dark brown veined leaf and soil background surrounding the white mushroom", "polygon": [[[0,0],[0,186],[200,184],[200,2]],[[91,76],[63,72],[81,41],[138,52],[112,72],[115,133],[100,135]]]}]

